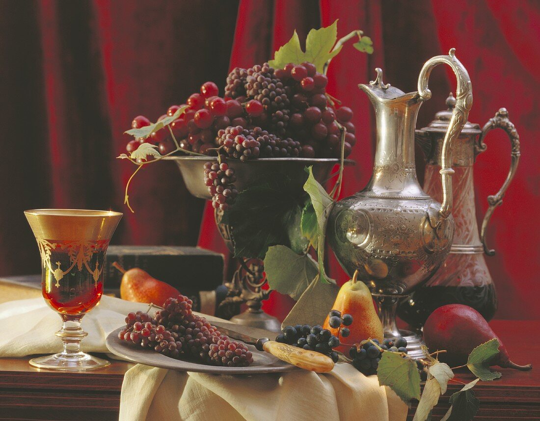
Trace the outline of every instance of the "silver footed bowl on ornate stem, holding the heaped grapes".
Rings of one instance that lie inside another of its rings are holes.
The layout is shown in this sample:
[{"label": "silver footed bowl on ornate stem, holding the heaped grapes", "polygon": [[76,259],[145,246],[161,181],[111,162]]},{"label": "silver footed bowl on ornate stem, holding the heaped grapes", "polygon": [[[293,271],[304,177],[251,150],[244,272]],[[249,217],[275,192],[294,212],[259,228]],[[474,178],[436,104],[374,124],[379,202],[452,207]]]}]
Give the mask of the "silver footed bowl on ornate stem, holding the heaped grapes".
[{"label": "silver footed bowl on ornate stem, holding the heaped grapes", "polygon": [[[204,163],[215,161],[217,157],[167,157],[178,165],[184,178],[188,191],[201,199],[210,200],[208,187],[204,182]],[[234,185],[239,192],[249,186],[271,178],[277,174],[284,174],[292,184],[292,189],[298,191],[300,197],[303,194],[303,185],[306,180],[305,167],[312,166],[315,179],[324,184],[332,168],[339,164],[339,159],[333,158],[260,158],[240,162],[236,159],[228,159],[227,164],[235,171],[237,181]],[[346,161],[347,164],[352,161]],[[233,205],[234,206],[234,205]],[[227,248],[234,252],[234,227],[222,222],[223,212],[219,209],[214,211],[215,223]],[[219,304],[219,313],[222,317],[230,317],[235,314],[240,304],[245,303],[247,310],[235,315],[231,321],[249,325],[256,328],[281,331],[281,323],[275,317],[269,316],[261,309],[262,300],[268,298],[271,291],[263,289],[266,283],[264,277],[264,265],[262,260],[252,257],[237,256],[240,263],[233,279],[226,282],[228,295]]]}]

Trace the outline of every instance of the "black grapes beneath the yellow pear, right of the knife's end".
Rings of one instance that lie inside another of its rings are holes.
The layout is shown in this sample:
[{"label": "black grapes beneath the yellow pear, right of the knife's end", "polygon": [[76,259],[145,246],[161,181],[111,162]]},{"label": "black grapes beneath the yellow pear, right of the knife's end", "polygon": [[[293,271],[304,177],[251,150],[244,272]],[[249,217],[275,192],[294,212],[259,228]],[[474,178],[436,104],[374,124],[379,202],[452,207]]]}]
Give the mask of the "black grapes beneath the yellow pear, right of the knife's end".
[{"label": "black grapes beneath the yellow pear, right of the knife's end", "polygon": [[350,348],[349,355],[353,359],[354,367],[362,372],[362,374],[370,376],[376,374],[382,353],[388,351],[404,352],[404,354],[407,354],[406,339],[402,337],[395,339],[386,338],[382,344],[379,343],[378,339],[362,341],[360,344]]}]

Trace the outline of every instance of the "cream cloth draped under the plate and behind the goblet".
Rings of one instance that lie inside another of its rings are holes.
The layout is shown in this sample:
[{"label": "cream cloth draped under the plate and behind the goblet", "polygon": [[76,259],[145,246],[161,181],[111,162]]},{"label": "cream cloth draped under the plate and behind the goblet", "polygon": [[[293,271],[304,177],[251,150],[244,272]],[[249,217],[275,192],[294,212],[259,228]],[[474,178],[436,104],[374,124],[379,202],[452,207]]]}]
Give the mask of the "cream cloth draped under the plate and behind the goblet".
[{"label": "cream cloth draped under the plate and behind the goblet", "polygon": [[[3,292],[0,284],[0,295]],[[39,293],[39,291],[36,291]],[[129,311],[148,305],[103,296],[83,318],[82,348],[107,352],[105,338]],[[209,320],[217,320],[208,317]],[[60,317],[42,297],[0,304],[0,357],[48,354],[62,349],[55,332]],[[304,370],[284,374],[219,376],[138,364],[126,372],[120,420],[390,420],[406,419],[407,405],[349,364],[329,374]]]}]

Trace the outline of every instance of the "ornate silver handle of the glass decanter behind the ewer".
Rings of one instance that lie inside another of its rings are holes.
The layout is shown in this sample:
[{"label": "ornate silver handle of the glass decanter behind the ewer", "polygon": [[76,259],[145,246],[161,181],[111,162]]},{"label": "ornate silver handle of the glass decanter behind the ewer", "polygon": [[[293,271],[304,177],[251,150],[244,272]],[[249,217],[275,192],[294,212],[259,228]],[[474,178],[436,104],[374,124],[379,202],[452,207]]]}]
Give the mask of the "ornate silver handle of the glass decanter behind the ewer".
[{"label": "ornate silver handle of the glass decanter behind the ewer", "polygon": [[488,223],[495,208],[502,205],[504,193],[506,193],[508,186],[510,186],[510,182],[516,174],[517,165],[519,164],[519,155],[521,155],[521,152],[519,151],[519,134],[517,133],[516,126],[514,126],[514,124],[508,119],[507,109],[501,108],[499,111],[497,111],[495,117],[490,118],[484,127],[482,127],[482,134],[480,135],[480,138],[478,138],[478,144],[475,148],[475,158],[476,155],[484,152],[487,149],[487,145],[484,143],[484,138],[485,135],[487,135],[488,132],[494,128],[502,128],[505,132],[507,132],[512,145],[512,150],[510,152],[510,171],[508,172],[507,178],[504,180],[504,184],[497,194],[488,196],[489,207],[488,210],[485,211],[484,219],[482,221],[482,228],[480,230],[480,237],[482,240],[482,245],[484,246],[484,252],[489,256],[494,255],[495,250],[490,249],[485,240],[485,233],[488,228]]}]

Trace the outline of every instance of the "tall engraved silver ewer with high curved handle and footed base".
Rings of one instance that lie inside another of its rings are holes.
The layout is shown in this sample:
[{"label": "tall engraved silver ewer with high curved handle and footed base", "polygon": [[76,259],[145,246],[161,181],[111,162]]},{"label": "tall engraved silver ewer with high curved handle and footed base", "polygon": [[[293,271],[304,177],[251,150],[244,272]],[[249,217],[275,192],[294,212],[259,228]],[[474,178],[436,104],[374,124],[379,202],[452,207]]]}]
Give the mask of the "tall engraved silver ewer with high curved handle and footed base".
[{"label": "tall engraved silver ewer with high curved handle and footed base", "polygon": [[[429,75],[443,63],[456,74],[457,90],[442,145],[439,203],[424,193],[416,178],[414,144],[417,113],[423,101],[431,98]],[[384,84],[382,70],[376,72],[373,82],[359,85],[375,108],[373,175],[366,188],[335,204],[327,235],[343,268],[349,274],[359,270],[359,279],[372,291],[384,336],[406,337],[409,355],[420,357],[421,338],[397,329],[396,307],[435,273],[450,252],[454,235],[451,147],[467,121],[473,93],[469,74],[454,49],[424,64],[417,92],[404,93]]]}]

